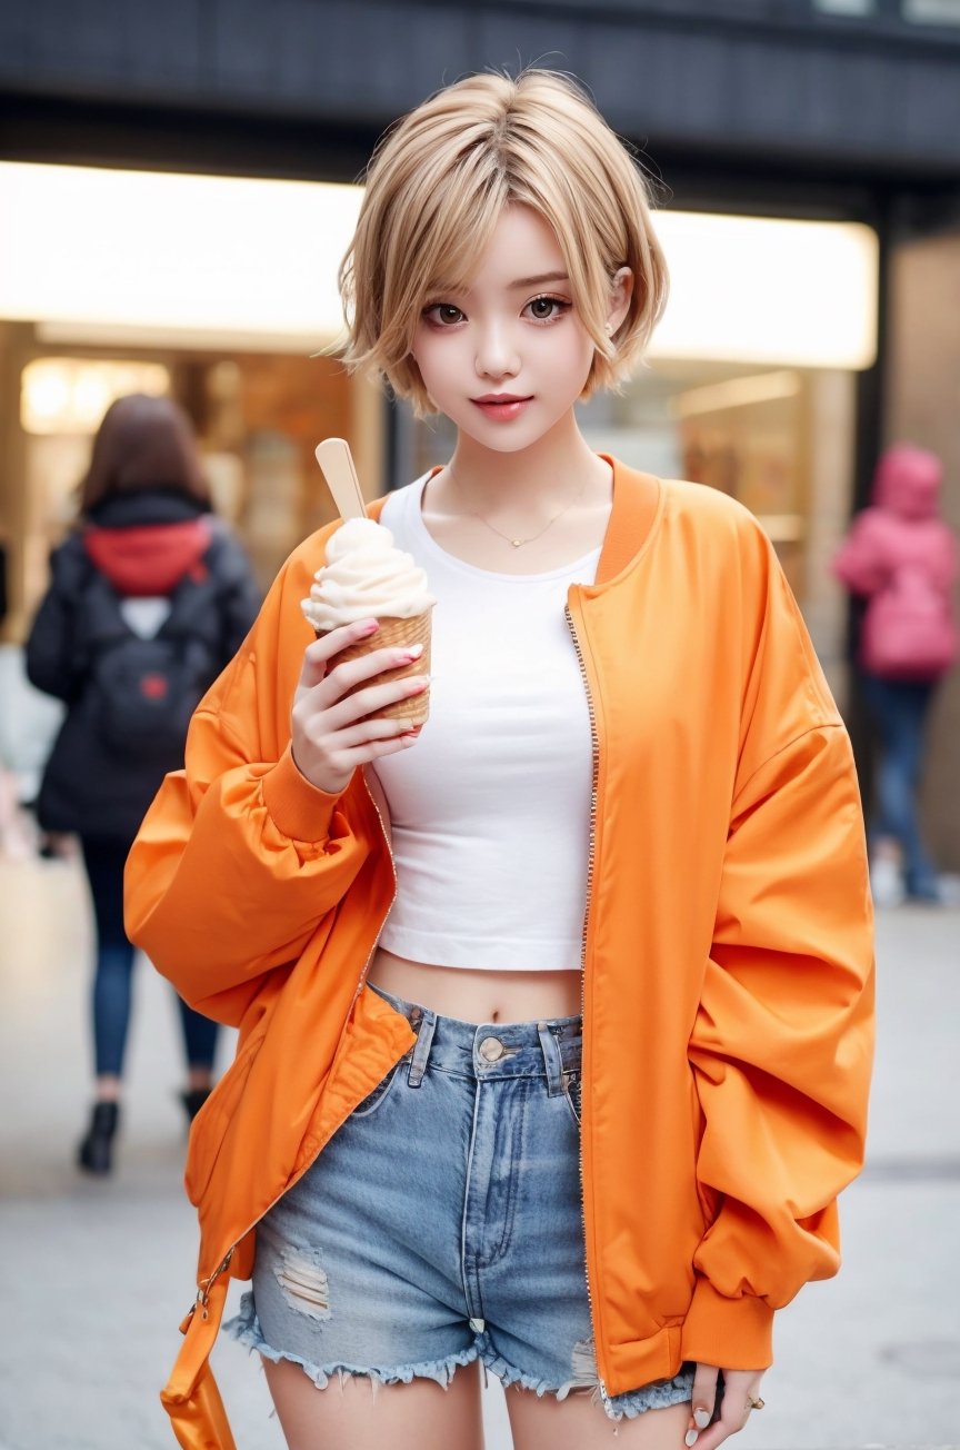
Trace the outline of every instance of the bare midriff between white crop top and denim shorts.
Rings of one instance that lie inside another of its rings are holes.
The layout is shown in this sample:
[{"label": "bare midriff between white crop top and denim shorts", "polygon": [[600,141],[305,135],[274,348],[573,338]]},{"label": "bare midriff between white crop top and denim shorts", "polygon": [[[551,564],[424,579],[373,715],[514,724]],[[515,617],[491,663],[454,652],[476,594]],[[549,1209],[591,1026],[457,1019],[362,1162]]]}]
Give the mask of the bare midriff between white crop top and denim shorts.
[{"label": "bare midriff between white crop top and denim shorts", "polygon": [[581,1011],[579,972],[434,967],[378,947],[366,980],[405,1002],[462,1022],[539,1022],[576,1016]]}]

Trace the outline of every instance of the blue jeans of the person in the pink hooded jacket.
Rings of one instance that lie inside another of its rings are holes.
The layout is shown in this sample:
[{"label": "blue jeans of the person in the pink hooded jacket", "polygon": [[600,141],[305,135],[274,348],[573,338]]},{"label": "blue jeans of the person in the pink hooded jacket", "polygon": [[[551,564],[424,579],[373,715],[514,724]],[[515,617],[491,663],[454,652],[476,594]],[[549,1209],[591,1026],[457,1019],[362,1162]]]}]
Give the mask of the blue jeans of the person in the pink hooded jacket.
[{"label": "blue jeans of the person in the pink hooded jacket", "polygon": [[917,790],[934,690],[932,680],[863,676],[863,695],[879,741],[870,834],[899,842],[906,890],[918,898],[935,898],[938,893],[937,867],[924,850],[917,819]]}]

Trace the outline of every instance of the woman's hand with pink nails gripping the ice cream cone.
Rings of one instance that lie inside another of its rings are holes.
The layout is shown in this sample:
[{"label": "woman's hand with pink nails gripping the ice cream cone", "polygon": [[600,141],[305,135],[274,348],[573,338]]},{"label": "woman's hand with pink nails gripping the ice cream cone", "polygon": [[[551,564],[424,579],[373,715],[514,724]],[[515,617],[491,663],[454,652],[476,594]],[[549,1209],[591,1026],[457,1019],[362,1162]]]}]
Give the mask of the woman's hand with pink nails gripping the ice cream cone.
[{"label": "woman's hand with pink nails gripping the ice cream cone", "polygon": [[358,766],[405,750],[418,734],[418,728],[411,728],[405,719],[365,716],[397,700],[423,695],[430,684],[426,674],[387,680],[348,695],[356,684],[385,670],[413,664],[423,652],[423,645],[397,645],[371,650],[359,660],[336,664],[342,650],[368,639],[378,628],[375,619],[358,619],[332,629],[304,651],[294,695],[292,754],[300,773],[327,795],[339,796]]}]

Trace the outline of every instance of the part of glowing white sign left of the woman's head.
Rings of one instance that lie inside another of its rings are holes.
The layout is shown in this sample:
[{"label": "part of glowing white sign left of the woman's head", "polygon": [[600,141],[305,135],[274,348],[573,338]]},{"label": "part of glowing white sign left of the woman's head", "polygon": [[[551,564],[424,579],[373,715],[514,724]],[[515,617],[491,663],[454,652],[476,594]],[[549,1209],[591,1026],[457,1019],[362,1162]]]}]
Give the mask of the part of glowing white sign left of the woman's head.
[{"label": "part of glowing white sign left of the woman's head", "polygon": [[0,318],[51,339],[310,351],[340,328],[359,199],[324,183],[0,164]]}]

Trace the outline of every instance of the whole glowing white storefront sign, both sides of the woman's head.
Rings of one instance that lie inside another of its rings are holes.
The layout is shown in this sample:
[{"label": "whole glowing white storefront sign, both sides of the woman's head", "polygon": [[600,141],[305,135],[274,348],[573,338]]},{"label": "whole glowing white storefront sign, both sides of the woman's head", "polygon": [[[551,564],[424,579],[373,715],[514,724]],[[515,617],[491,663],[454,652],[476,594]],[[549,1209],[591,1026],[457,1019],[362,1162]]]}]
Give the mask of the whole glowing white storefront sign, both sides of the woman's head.
[{"label": "whole glowing white storefront sign, both sides of the woman's head", "polygon": [[[0,318],[49,342],[310,351],[340,331],[359,187],[0,164]],[[64,218],[84,218],[64,229]],[[652,355],[863,368],[867,226],[662,212],[673,278]]]}]

